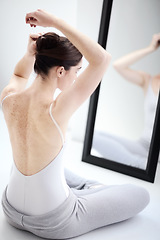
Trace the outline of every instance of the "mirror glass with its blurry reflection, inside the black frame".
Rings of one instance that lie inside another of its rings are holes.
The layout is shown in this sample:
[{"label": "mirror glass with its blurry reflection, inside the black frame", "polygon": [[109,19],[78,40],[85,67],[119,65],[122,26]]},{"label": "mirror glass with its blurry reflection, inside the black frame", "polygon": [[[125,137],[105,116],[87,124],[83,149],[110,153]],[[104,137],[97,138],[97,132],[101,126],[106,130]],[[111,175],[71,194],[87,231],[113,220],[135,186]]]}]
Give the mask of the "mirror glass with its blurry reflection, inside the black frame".
[{"label": "mirror glass with its blurry reflection, inside the black frame", "polygon": [[[112,8],[107,50],[113,61],[101,84],[91,154],[146,169],[160,89],[158,16],[156,4],[146,5],[148,16],[138,1],[123,2],[123,9],[117,0]],[[147,23],[153,28],[146,30]]]}]

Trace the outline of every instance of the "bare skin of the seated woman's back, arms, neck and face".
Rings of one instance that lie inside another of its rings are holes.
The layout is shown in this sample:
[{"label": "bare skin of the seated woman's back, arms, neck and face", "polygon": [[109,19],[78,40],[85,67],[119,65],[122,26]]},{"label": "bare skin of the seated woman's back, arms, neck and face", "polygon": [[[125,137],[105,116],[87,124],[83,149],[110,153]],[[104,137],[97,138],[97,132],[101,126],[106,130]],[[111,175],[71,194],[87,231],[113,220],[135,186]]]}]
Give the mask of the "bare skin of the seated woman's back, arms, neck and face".
[{"label": "bare skin of the seated woman's back, arms, neck and face", "polygon": [[62,148],[60,134],[49,115],[55,90],[59,88],[62,92],[53,103],[52,114],[65,136],[70,117],[101,81],[110,54],[62,19],[43,10],[28,13],[26,23],[31,27],[57,28],[88,61],[88,67],[78,77],[82,61],[68,71],[63,66],[54,67],[45,80],[38,75],[25,89],[35,61],[35,41],[39,37],[39,34],[30,35],[27,53],[17,63],[9,84],[1,93],[1,101],[13,93],[3,102],[3,112],[15,164],[21,173],[29,176],[47,166]]}]

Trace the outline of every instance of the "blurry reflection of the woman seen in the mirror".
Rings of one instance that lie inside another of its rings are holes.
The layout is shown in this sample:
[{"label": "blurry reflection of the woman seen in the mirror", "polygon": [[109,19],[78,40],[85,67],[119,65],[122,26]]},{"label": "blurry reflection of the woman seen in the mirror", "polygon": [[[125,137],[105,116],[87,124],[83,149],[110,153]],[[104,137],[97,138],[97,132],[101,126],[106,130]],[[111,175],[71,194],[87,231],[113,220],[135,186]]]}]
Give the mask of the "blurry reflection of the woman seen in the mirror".
[{"label": "blurry reflection of the woman seen in the mirror", "polygon": [[105,158],[137,168],[146,168],[160,89],[160,74],[151,76],[147,72],[133,70],[131,66],[156,51],[159,46],[160,34],[155,34],[149,46],[123,56],[114,62],[114,68],[122,77],[137,84],[144,91],[144,130],[141,138],[137,141],[96,131],[93,148]]}]

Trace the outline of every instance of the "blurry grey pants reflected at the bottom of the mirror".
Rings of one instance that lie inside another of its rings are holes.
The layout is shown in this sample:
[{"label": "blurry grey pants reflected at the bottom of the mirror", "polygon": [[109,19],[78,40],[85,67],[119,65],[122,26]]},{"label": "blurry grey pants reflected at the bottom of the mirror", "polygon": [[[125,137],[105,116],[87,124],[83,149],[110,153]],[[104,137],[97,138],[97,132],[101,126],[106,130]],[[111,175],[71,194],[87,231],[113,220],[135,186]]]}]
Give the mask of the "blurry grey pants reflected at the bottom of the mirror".
[{"label": "blurry grey pants reflected at the bottom of the mirror", "polygon": [[92,147],[106,159],[146,169],[149,143],[142,138],[132,141],[109,133],[95,131]]}]

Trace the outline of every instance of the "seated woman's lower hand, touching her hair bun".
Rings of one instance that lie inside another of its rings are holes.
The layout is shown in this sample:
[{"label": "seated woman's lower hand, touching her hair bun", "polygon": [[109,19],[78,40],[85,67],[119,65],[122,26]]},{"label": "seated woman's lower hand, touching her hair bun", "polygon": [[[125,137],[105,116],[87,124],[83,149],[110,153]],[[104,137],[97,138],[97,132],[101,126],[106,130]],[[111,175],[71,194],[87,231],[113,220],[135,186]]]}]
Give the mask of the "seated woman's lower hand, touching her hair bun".
[{"label": "seated woman's lower hand, touching her hair bun", "polygon": [[35,55],[36,52],[36,40],[42,35],[42,33],[32,33],[29,35],[27,52],[30,55]]}]

